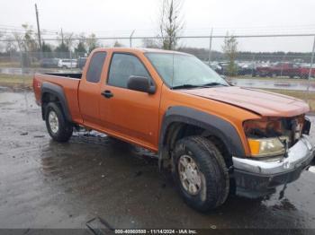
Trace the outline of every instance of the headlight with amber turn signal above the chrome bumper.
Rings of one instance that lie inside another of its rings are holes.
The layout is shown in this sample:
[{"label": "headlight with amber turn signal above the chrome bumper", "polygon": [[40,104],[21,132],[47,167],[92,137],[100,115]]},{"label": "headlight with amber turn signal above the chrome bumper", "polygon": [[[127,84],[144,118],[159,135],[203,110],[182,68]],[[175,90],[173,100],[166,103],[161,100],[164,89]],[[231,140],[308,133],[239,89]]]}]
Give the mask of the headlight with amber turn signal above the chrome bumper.
[{"label": "headlight with amber turn signal above the chrome bumper", "polygon": [[[285,141],[284,141],[285,140]],[[252,157],[271,157],[283,155],[285,152],[285,142],[288,141],[288,137],[281,136],[275,138],[262,138],[253,139],[248,138],[250,153]]]}]

